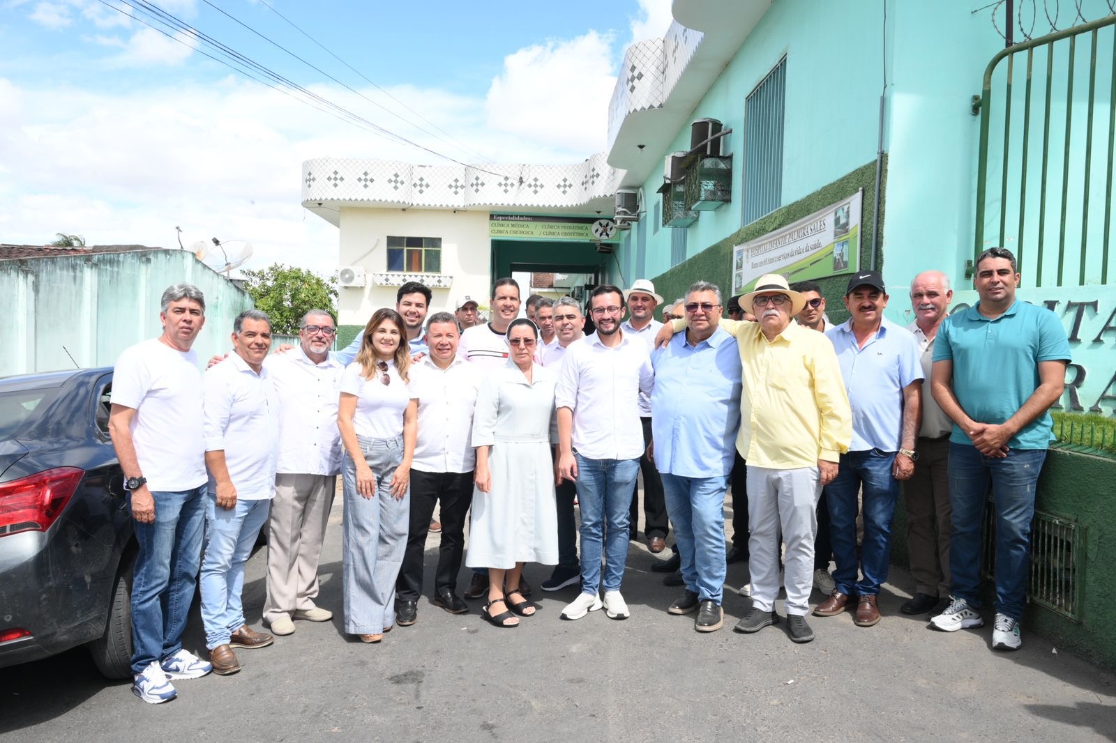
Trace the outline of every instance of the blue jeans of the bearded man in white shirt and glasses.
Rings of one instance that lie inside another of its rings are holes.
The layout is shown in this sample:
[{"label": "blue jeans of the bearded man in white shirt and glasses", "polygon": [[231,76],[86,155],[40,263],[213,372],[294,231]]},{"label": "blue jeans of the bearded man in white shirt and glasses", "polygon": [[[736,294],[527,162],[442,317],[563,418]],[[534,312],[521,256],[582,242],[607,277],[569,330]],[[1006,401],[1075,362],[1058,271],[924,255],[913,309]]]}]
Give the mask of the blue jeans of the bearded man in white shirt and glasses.
[{"label": "blue jeans of the bearded man in white shirt and glasses", "polygon": [[[628,506],[639,474],[639,460],[577,459],[577,503],[581,509],[581,592],[600,589],[600,553],[605,553],[605,590],[618,591],[627,561]],[[607,525],[607,543],[605,529]]]}]

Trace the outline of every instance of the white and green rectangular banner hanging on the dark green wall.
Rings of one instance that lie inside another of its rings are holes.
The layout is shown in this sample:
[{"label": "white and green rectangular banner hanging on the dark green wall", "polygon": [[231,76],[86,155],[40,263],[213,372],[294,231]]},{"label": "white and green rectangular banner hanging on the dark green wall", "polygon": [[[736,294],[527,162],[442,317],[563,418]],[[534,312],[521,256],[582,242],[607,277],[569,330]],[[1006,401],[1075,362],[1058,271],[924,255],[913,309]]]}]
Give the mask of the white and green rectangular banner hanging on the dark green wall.
[{"label": "white and green rectangular banner hanging on the dark green wall", "polygon": [[732,296],[751,290],[764,273],[790,283],[860,269],[863,191],[793,224],[732,249]]}]

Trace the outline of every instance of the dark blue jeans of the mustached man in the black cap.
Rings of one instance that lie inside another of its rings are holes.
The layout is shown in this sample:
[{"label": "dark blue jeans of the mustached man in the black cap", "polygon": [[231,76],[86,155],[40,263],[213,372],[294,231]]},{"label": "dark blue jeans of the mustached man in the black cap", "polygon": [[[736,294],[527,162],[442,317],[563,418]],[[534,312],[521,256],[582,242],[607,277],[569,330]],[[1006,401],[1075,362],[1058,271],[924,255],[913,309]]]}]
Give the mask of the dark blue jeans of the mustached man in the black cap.
[{"label": "dark blue jeans of the mustached man in the black cap", "polygon": [[[895,452],[869,448],[840,455],[837,476],[825,486],[829,503],[829,535],[833,541],[836,590],[852,596],[876,596],[887,580],[892,553],[892,519],[899,494],[899,481],[892,476]],[[857,491],[864,489],[864,543],[859,566],[856,560]],[[863,578],[857,581],[859,567]],[[855,589],[855,590],[854,590]]]}]

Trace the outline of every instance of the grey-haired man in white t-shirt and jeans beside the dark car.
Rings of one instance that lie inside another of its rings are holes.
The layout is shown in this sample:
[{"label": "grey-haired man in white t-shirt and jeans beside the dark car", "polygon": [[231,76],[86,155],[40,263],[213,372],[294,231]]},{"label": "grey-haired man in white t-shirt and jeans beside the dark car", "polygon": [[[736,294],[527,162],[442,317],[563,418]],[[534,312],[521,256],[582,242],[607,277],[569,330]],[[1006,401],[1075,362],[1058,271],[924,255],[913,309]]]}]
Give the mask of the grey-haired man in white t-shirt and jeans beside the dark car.
[{"label": "grey-haired man in white t-shirt and jeans beside the dark car", "polygon": [[163,292],[163,335],[121,354],[108,431],[135,521],[132,583],[133,693],[158,704],[171,679],[212,668],[182,647],[194,598],[204,523],[202,375],[191,350],[205,325],[205,298],[187,283]]}]

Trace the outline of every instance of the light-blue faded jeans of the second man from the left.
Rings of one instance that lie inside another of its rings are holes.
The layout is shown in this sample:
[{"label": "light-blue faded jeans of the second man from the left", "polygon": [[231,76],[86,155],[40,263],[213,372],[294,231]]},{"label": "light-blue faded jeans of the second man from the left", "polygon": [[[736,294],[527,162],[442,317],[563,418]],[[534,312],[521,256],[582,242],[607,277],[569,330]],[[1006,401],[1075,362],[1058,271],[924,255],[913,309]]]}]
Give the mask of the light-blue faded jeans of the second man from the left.
[{"label": "light-blue faded jeans of the second man from the left", "polygon": [[268,520],[271,499],[237,499],[225,509],[217,496],[205,498],[205,557],[202,558],[202,626],[205,647],[227,645],[232,633],[244,626],[244,563],[256,538]]}]

